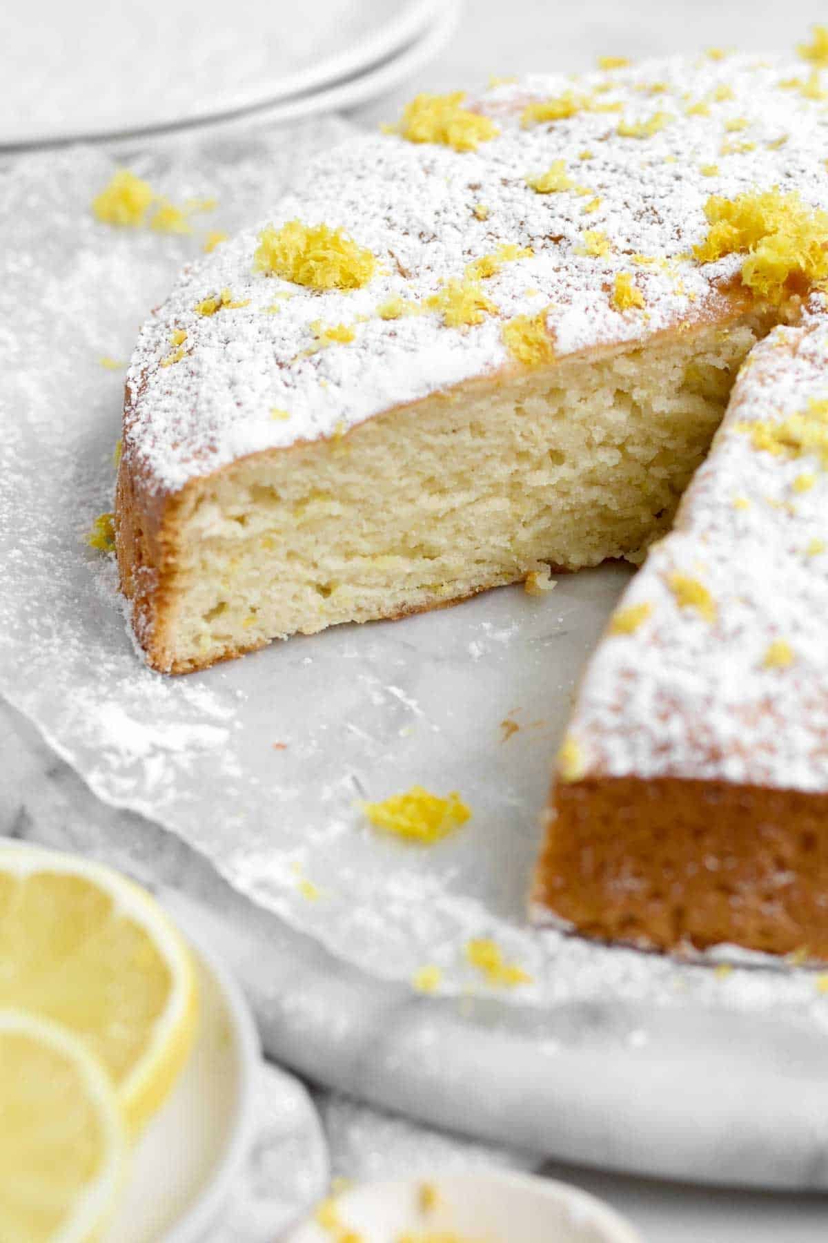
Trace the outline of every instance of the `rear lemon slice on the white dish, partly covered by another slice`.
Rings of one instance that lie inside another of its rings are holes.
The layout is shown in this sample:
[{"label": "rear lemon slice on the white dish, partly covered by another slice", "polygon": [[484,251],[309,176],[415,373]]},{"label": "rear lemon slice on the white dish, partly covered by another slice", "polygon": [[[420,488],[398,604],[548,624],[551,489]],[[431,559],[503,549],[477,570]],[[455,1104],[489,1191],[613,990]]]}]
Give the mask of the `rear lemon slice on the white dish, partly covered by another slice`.
[{"label": "rear lemon slice on the white dish, partly covered by another slice", "polygon": [[192,1045],[192,957],[154,899],[117,871],[38,846],[4,846],[0,1007],[81,1037],[137,1130]]}]

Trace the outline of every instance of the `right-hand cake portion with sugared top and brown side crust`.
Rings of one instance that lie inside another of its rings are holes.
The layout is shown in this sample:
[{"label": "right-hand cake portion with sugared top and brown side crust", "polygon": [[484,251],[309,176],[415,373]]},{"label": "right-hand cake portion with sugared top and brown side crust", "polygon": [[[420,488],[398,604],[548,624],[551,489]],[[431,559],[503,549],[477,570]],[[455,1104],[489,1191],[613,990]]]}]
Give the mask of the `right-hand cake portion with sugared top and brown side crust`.
[{"label": "right-hand cake portion with sugared top and brown side crust", "polygon": [[828,323],[745,364],[675,527],[591,659],[540,919],[828,957]]}]

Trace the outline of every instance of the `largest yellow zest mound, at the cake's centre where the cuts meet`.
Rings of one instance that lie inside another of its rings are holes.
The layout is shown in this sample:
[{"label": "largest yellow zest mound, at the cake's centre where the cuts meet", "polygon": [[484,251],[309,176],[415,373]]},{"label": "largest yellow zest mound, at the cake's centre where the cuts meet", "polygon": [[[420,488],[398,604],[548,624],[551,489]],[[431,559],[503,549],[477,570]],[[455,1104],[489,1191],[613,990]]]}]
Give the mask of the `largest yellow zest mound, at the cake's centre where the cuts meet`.
[{"label": "largest yellow zest mound, at the cake's centre where the cuts meet", "polygon": [[704,211],[710,229],[693,247],[695,259],[709,264],[746,254],[742,283],[768,302],[782,302],[791,278],[813,285],[828,277],[828,213],[804,204],[796,191],[714,195]]}]

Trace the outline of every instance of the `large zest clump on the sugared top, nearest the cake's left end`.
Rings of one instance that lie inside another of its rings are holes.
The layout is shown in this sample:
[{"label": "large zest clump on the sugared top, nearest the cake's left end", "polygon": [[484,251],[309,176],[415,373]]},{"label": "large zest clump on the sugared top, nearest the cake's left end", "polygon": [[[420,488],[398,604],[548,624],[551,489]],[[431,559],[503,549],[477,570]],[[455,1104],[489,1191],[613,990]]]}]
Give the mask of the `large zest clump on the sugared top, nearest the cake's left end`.
[{"label": "large zest clump on the sugared top, nearest the cake's left end", "polygon": [[253,271],[312,290],[358,290],[369,283],[375,268],[371,251],[341,229],[300,220],[288,220],[281,229],[267,225],[253,255]]}]

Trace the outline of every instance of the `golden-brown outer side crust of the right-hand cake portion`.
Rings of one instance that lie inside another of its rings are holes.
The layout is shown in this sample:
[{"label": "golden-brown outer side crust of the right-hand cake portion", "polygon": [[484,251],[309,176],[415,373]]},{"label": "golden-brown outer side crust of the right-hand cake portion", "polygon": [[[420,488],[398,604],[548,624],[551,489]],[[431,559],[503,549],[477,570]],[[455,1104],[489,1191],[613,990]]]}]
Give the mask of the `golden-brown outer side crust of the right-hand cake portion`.
[{"label": "golden-brown outer side crust of the right-hand cake portion", "polygon": [[559,784],[534,901],[603,941],[828,960],[828,794],[673,777]]}]

